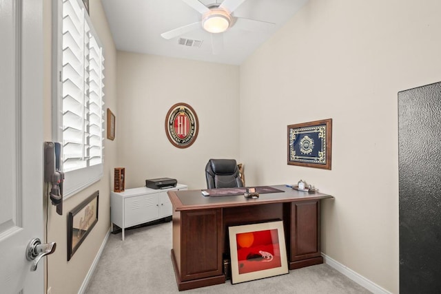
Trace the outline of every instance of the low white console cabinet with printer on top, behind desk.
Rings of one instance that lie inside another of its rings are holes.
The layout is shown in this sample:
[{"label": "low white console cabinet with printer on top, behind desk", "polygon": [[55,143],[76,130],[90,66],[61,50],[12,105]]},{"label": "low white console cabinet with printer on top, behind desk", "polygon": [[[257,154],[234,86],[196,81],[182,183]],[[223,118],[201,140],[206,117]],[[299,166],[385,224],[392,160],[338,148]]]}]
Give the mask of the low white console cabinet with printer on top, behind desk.
[{"label": "low white console cabinet with printer on top, behind desk", "polygon": [[172,203],[167,191],[186,190],[187,186],[177,184],[167,189],[150,189],[147,187],[125,189],[121,193],[110,192],[110,220],[123,231],[152,220],[172,216]]}]

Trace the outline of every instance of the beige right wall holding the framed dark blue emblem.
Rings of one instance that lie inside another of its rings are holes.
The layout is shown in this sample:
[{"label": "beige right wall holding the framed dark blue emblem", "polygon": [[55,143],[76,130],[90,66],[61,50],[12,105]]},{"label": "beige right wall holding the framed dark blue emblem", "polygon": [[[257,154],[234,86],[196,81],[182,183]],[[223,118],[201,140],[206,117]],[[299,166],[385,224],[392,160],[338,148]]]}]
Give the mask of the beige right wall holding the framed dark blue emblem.
[{"label": "beige right wall holding the framed dark blue emblem", "polygon": [[[301,178],[335,196],[322,206],[322,251],[393,293],[397,93],[441,81],[440,11],[438,0],[310,0],[240,66],[247,184]],[[288,166],[287,125],[325,118],[332,170]]]}]

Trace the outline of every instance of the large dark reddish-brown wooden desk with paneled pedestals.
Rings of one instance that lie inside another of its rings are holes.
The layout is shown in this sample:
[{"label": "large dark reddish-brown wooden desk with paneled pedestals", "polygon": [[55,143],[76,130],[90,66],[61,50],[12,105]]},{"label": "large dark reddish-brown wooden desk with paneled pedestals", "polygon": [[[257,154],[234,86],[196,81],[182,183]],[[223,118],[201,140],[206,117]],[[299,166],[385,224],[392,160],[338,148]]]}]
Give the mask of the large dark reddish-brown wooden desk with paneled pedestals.
[{"label": "large dark reddish-brown wooden desk with paneled pedestals", "polygon": [[167,192],[173,205],[172,263],[179,291],[225,282],[229,226],[283,220],[289,269],[323,263],[320,200],[333,196],[272,187],[285,192],[261,193],[257,199],[204,197],[201,190]]}]

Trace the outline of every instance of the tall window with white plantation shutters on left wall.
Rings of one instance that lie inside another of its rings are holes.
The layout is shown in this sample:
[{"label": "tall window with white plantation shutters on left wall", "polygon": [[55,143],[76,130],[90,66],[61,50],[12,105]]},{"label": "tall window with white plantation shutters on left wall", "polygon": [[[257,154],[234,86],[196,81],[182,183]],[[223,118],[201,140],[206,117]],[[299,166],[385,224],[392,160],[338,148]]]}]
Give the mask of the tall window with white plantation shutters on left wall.
[{"label": "tall window with white plantation shutters on left wall", "polygon": [[54,0],[54,140],[66,197],[103,176],[103,47],[80,0]]}]

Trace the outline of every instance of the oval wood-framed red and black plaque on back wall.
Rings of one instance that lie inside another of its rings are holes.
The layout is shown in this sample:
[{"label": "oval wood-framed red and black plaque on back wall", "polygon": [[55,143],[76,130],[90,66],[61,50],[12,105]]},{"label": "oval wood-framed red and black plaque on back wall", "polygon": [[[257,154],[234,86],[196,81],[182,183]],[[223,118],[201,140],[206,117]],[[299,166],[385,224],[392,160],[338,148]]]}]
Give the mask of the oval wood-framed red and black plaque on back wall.
[{"label": "oval wood-framed red and black plaque on back wall", "polygon": [[165,117],[165,134],[175,147],[190,147],[199,132],[198,116],[187,103],[176,103]]}]

